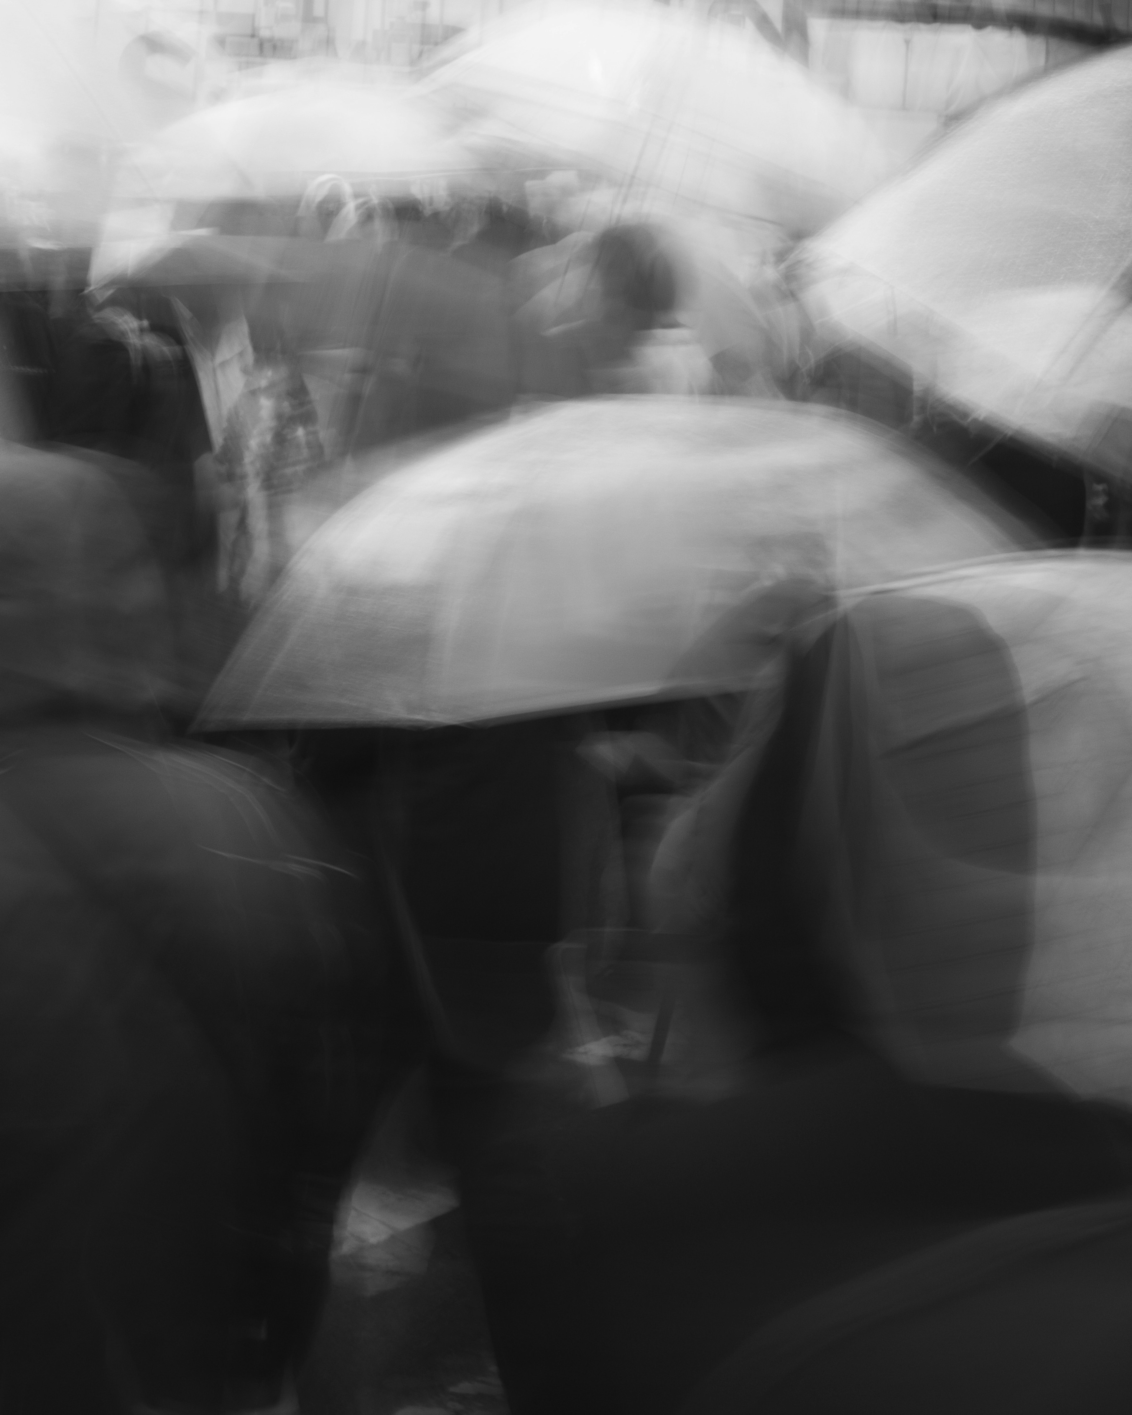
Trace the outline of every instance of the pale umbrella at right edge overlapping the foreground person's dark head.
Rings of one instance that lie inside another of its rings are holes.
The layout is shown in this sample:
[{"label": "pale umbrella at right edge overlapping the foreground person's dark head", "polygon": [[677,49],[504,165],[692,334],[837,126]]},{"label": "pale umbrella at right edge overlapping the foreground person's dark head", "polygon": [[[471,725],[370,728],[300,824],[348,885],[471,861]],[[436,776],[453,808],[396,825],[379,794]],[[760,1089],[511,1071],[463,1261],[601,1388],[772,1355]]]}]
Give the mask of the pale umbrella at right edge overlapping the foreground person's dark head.
[{"label": "pale umbrella at right edge overlapping the foreground person's dark head", "polygon": [[1020,1056],[1132,1104],[1129,594],[1128,556],[1047,553],[850,613],[870,863],[843,941],[920,1075],[1010,1085]]}]

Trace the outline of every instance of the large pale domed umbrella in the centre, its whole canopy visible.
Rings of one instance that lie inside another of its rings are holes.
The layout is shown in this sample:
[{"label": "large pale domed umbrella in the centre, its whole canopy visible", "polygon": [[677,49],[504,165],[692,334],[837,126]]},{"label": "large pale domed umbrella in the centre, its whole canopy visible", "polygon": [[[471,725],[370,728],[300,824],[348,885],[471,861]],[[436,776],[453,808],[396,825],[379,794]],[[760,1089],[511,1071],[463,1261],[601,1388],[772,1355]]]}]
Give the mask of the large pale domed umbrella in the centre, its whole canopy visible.
[{"label": "large pale domed umbrella in the centre, its whole canopy visible", "polygon": [[562,403],[391,474],[327,522],[202,722],[458,723],[750,686],[784,584],[822,601],[1023,539],[849,415]]}]

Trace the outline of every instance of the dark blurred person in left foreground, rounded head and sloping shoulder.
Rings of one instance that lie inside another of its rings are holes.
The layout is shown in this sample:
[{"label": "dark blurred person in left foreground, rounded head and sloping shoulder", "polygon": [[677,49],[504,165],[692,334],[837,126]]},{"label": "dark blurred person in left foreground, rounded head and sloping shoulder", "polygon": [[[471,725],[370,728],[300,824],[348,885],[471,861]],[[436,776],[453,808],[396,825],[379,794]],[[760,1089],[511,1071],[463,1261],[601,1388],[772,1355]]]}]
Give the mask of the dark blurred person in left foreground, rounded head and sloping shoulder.
[{"label": "dark blurred person in left foreground, rounded head and sloping shoulder", "polygon": [[0,1405],[294,1409],[378,1085],[376,942],[266,764],[171,744],[160,576],[7,449]]}]

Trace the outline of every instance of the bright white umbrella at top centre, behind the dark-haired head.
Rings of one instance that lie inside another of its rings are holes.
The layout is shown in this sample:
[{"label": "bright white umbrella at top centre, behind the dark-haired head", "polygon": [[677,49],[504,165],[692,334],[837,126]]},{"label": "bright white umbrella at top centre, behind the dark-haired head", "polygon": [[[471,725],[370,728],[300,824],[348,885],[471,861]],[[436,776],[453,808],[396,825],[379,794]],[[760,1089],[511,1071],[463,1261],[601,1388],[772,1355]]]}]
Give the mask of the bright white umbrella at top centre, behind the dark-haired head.
[{"label": "bright white umbrella at top centre, behind the dark-haired head", "polygon": [[770,45],[661,7],[508,17],[422,82],[466,140],[628,194],[814,231],[887,173],[865,117]]}]

